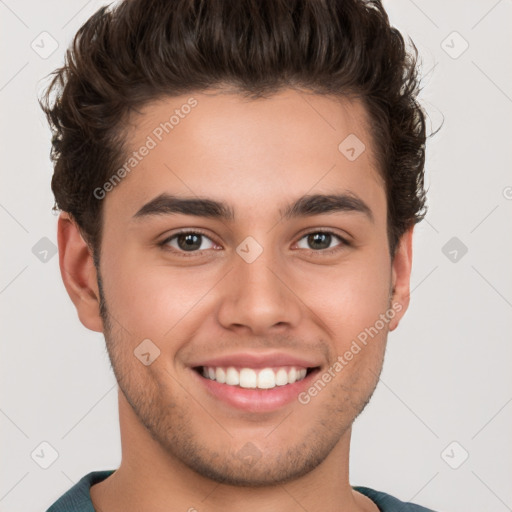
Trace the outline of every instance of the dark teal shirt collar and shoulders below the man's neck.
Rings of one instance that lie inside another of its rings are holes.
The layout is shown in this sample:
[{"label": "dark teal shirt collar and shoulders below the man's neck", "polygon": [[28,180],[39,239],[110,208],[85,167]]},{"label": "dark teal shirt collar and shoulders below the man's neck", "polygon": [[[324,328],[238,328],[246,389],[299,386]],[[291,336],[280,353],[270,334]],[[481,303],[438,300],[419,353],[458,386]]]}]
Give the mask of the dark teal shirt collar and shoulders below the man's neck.
[{"label": "dark teal shirt collar and shoulders below the man's neck", "polygon": [[[90,488],[105,480],[114,470],[93,471],[85,475],[69,491],[63,494],[46,512],[95,512],[92,506]],[[389,494],[374,491],[368,487],[353,487],[356,491],[370,498],[381,512],[434,512],[431,509],[404,503]]]}]

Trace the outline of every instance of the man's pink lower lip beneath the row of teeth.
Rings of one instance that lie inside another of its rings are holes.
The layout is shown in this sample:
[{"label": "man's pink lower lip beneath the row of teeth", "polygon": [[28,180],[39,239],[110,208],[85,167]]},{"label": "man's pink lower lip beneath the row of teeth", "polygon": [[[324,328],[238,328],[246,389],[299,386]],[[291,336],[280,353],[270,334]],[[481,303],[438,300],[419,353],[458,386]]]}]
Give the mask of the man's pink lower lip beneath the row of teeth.
[{"label": "man's pink lower lip beneath the row of teeth", "polygon": [[271,389],[247,389],[221,384],[216,380],[202,377],[195,370],[191,371],[196,379],[199,379],[200,384],[215,398],[231,407],[247,412],[271,412],[293,401],[298,401],[299,393],[310,386],[311,379],[318,372],[318,370],[314,370],[308,373],[304,379],[285,386],[276,386]]}]

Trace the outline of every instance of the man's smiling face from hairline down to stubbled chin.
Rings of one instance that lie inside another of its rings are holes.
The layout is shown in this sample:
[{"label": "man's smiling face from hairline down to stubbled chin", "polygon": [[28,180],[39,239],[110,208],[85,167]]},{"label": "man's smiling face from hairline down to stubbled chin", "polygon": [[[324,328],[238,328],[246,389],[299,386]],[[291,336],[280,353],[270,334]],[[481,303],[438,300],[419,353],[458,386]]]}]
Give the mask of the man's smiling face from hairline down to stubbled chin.
[{"label": "man's smiling face from hairline down to stubbled chin", "polygon": [[407,307],[365,111],[211,92],[132,121],[137,163],[103,199],[103,325],[87,301],[82,322],[170,460],[235,485],[304,475],[349,436]]}]

